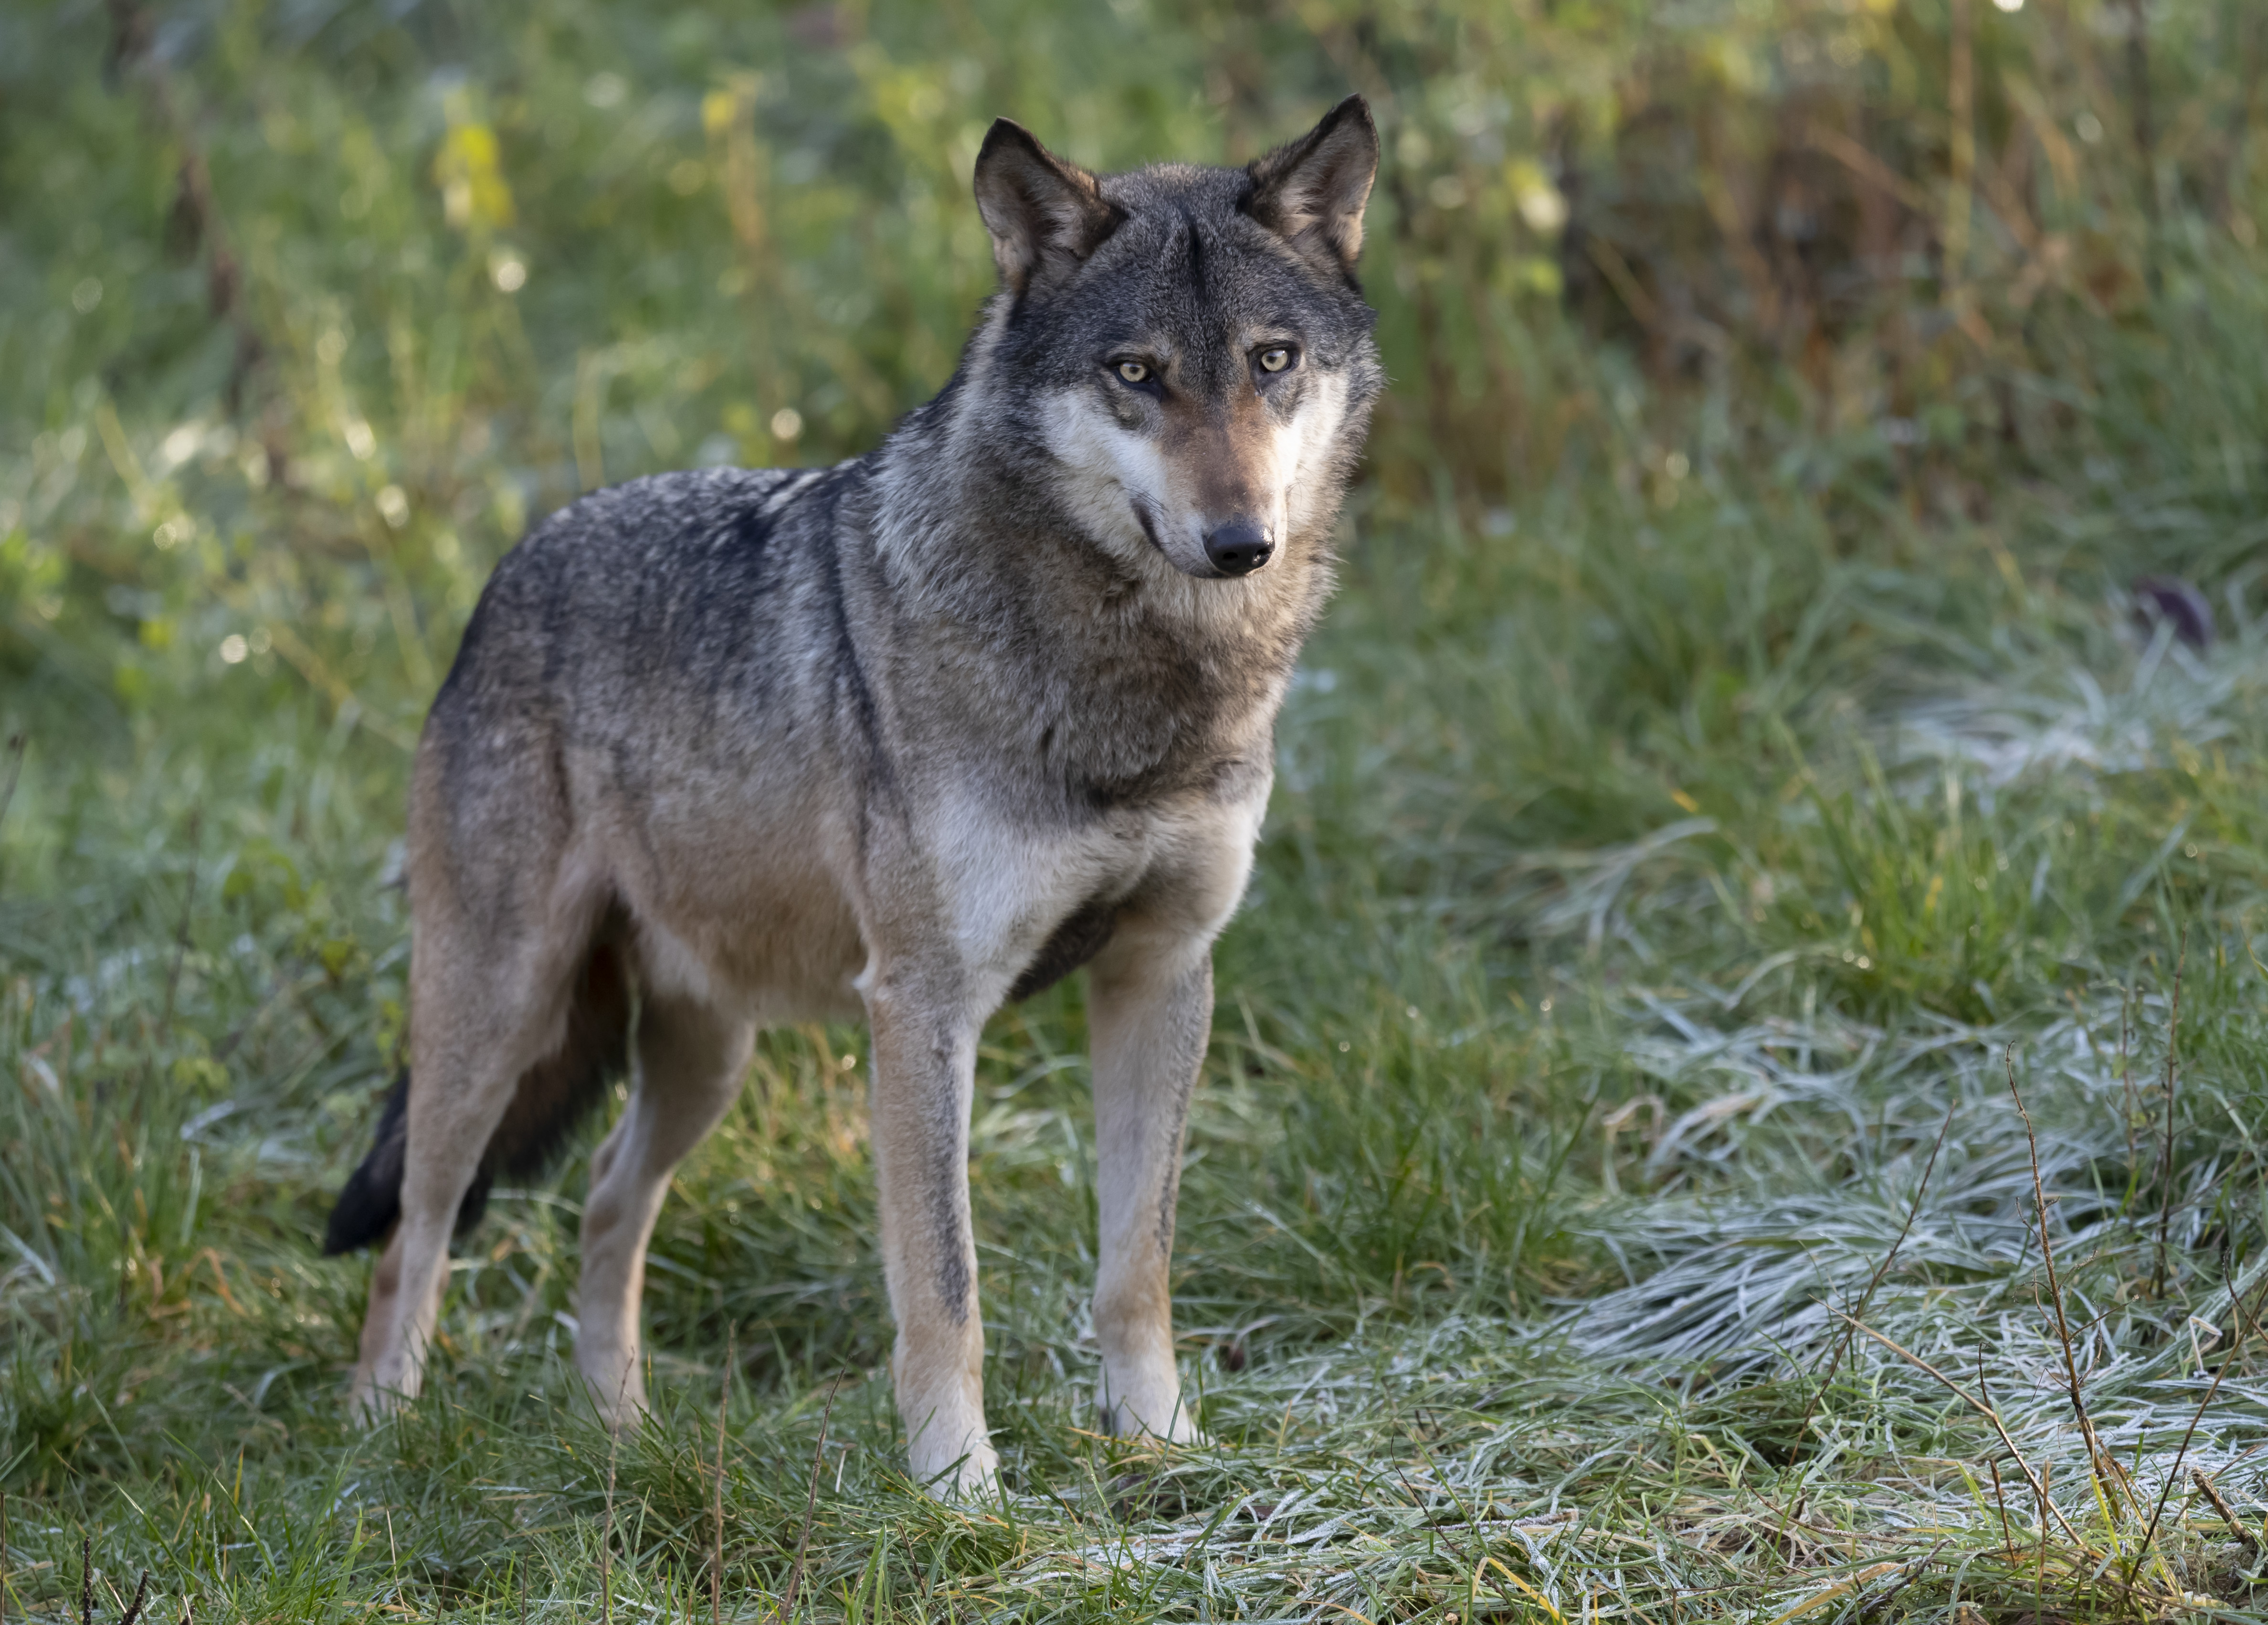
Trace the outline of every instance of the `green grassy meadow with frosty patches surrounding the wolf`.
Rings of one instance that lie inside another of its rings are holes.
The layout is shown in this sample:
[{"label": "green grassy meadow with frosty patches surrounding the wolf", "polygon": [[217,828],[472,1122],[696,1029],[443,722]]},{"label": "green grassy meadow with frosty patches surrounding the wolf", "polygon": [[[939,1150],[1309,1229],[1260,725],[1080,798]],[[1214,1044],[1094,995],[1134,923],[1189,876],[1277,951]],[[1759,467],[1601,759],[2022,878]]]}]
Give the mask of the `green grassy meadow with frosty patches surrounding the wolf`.
[{"label": "green grassy meadow with frosty patches surrounding the wolf", "polygon": [[[0,1614],[2268,1618],[2263,66],[2252,0],[0,9]],[[1218,953],[1211,1441],[1093,1430],[1077,980],[980,1055],[1000,1502],[898,1468],[855,1028],[676,1180],[649,1428],[581,1155],[352,1428],[488,570],[925,399],[993,113],[1349,89],[1393,390]]]}]

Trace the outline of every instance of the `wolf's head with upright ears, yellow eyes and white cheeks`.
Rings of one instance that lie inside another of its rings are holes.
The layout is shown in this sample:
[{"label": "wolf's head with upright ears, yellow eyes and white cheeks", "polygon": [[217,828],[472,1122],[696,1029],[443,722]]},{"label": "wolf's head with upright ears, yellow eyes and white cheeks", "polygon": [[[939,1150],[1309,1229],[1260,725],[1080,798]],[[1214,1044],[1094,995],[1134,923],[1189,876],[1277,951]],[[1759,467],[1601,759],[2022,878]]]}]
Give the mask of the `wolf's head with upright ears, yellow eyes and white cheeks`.
[{"label": "wolf's head with upright ears, yellow eyes and white cheeks", "polygon": [[1241,170],[1089,175],[991,127],[984,393],[1098,545],[1200,579],[1325,547],[1383,381],[1354,279],[1377,168],[1359,95]]}]

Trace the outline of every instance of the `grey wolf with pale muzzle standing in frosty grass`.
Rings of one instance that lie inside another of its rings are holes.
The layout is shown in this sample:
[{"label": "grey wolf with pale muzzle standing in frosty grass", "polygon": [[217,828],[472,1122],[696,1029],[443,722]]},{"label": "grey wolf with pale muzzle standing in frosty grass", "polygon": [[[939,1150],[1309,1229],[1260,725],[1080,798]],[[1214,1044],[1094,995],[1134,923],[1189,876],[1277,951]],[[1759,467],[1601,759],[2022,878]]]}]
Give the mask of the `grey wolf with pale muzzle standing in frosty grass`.
[{"label": "grey wolf with pale muzzle standing in frosty grass", "polygon": [[1098,1403],[1198,1437],[1184,1119],[1383,388],[1356,281],[1377,163],[1361,98],[1245,168],[1093,175],[1002,118],[975,163],[1000,284],[930,404],[832,468],[585,495],[497,565],[411,776],[408,1069],[324,1239],[383,1241],[361,1414],[415,1398],[451,1232],[628,1071],[576,1364],[633,1423],[671,1169],[762,1026],[864,1017],[909,1466],[984,1491],[975,1046],[1084,967]]}]

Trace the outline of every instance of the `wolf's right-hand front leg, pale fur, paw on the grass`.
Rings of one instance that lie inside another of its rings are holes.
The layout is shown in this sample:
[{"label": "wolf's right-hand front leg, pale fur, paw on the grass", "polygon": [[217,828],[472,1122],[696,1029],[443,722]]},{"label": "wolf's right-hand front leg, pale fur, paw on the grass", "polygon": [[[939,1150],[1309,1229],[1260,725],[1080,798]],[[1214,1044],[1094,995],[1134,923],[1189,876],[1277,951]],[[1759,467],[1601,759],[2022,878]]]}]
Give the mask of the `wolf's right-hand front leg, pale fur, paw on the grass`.
[{"label": "wolf's right-hand front leg, pale fur, paw on the grass", "polygon": [[1102,1423],[1120,1434],[1186,1441],[1198,1428],[1173,1359],[1173,1205],[1188,1092],[1213,1028],[1211,942],[1123,924],[1093,962],[1086,1019],[1102,1221]]}]

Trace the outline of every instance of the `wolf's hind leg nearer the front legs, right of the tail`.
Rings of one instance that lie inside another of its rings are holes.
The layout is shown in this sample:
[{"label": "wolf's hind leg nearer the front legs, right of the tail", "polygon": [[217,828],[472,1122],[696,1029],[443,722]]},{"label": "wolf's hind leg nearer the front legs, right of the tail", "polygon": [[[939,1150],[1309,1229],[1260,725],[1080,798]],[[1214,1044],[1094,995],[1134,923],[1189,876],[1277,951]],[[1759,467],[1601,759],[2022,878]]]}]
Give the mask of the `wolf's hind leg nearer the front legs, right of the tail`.
[{"label": "wolf's hind leg nearer the front legs, right of the tail", "polygon": [[739,1094],[755,1028],[710,1005],[649,994],[637,1014],[637,1087],[592,1155],[574,1357],[610,1428],[646,1407],[640,1300],[646,1241],[669,1173]]}]

